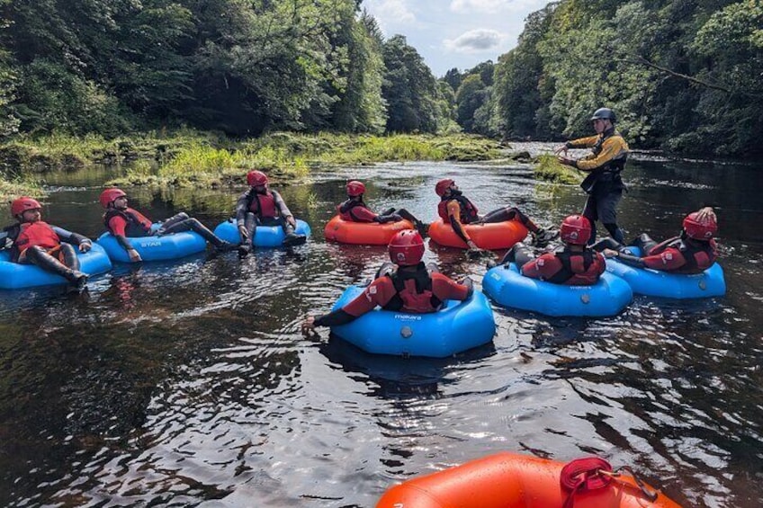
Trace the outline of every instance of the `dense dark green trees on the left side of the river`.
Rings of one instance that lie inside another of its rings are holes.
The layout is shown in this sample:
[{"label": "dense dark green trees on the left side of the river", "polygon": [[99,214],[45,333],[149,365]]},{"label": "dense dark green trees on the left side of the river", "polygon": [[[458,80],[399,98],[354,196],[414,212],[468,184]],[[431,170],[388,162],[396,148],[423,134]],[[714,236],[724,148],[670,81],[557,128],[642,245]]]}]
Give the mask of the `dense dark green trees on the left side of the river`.
[{"label": "dense dark green trees on the left side of the river", "polygon": [[0,0],[0,135],[447,126],[416,49],[360,4]]}]

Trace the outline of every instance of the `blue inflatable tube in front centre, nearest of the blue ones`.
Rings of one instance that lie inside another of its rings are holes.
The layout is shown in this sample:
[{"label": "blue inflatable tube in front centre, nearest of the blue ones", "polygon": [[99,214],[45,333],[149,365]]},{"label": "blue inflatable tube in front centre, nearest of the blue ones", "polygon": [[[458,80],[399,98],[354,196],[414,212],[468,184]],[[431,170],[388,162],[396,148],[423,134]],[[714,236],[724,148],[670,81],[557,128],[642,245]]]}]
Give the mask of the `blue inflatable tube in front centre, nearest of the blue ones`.
[{"label": "blue inflatable tube in front centre, nearest of the blue ones", "polygon": [[[350,286],[332,310],[344,307],[365,288]],[[489,343],[496,322],[488,299],[475,290],[464,301],[447,300],[430,314],[410,314],[375,308],[331,331],[365,352],[446,358]]]}]

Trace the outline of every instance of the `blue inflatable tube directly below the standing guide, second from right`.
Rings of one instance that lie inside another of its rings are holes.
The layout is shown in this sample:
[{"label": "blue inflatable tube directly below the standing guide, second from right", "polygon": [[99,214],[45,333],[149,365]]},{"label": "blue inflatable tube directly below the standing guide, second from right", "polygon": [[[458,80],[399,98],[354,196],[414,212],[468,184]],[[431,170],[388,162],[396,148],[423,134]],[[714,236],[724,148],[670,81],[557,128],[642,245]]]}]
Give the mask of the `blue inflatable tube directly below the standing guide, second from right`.
[{"label": "blue inflatable tube directly below the standing guide, second from right", "polygon": [[500,306],[546,316],[615,316],[633,299],[628,283],[610,273],[592,286],[565,286],[525,277],[514,263],[489,269],[482,290]]}]

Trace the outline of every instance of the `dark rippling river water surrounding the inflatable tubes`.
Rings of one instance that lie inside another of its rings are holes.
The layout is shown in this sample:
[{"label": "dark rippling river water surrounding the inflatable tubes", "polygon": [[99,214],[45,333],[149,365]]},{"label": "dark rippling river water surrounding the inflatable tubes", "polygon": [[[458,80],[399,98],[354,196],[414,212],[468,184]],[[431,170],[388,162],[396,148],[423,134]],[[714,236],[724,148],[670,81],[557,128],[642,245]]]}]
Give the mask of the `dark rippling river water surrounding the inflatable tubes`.
[{"label": "dark rippling river water surrounding the inflatable tubes", "polygon": [[[636,297],[606,319],[494,307],[493,343],[447,360],[301,336],[303,316],[385,260],[323,239],[346,179],[364,180],[374,208],[428,221],[435,182],[450,177],[481,211],[516,203],[546,226],[582,208],[578,188],[514,163],[342,168],[275,186],[313,228],[292,251],[122,265],[80,296],[4,291],[0,505],[372,507],[396,482],[513,450],[597,454],[684,506],[759,507],[761,171],[641,156],[626,173],[628,236],[672,236],[687,211],[717,207],[725,298]],[[45,217],[97,236],[111,174],[49,175]],[[151,218],[186,210],[213,227],[239,191],[130,195]],[[477,282],[485,272],[434,245],[426,260]]]}]

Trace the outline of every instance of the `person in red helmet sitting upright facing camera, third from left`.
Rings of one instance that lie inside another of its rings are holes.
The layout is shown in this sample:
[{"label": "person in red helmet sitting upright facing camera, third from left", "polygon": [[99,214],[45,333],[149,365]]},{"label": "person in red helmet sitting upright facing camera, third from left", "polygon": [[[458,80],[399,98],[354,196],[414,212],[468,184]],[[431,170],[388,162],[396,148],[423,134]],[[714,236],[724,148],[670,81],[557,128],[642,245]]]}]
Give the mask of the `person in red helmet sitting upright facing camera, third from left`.
[{"label": "person in red helmet sitting upright facing camera, third from left", "polygon": [[247,173],[247,183],[249,190],[236,201],[236,225],[241,236],[238,254],[243,257],[251,252],[257,226],[283,227],[286,235],[284,246],[304,244],[307,236],[294,233],[297,221],[281,194],[268,188],[267,175],[262,171],[250,171]]}]

